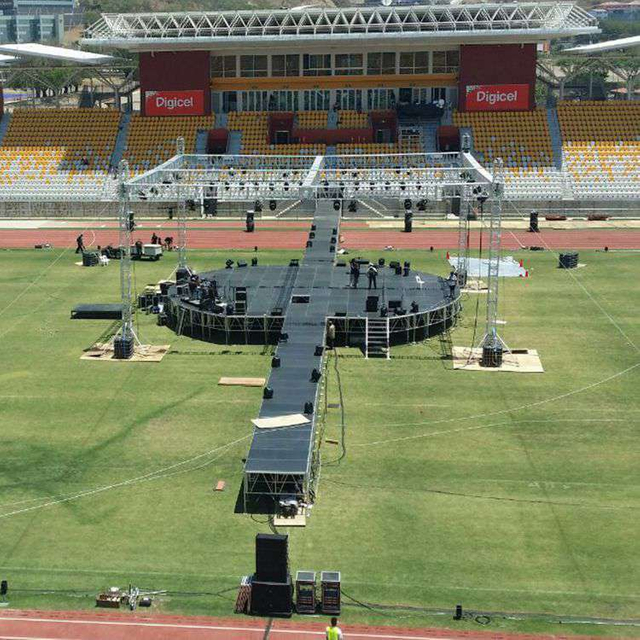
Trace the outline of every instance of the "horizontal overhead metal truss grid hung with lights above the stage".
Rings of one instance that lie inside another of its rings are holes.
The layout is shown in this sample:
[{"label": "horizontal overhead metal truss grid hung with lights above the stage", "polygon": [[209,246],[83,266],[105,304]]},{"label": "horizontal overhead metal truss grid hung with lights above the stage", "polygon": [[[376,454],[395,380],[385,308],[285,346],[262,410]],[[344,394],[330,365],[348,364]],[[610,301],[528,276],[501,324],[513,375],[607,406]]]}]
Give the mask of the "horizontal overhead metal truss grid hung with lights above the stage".
[{"label": "horizontal overhead metal truss grid hung with lights above the stage", "polygon": [[127,183],[131,200],[442,200],[491,175],[470,154],[177,155]]}]

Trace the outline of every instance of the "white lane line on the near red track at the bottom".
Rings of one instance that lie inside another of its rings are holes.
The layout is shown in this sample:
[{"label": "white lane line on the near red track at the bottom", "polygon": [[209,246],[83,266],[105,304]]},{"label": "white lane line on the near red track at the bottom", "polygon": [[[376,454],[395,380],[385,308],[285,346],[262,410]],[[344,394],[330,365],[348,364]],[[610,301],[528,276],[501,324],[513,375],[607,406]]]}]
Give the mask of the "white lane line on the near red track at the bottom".
[{"label": "white lane line on the near red track at the bottom", "polygon": [[[126,622],[115,620],[64,620],[60,618],[12,618],[7,616],[0,616],[0,624],[3,620],[9,620],[12,622],[25,622],[25,623],[44,623],[44,624],[79,624],[79,625],[101,625],[112,627],[146,627],[146,628],[159,628],[159,629],[198,629],[203,631],[242,631],[244,633],[258,633],[263,634],[264,629],[259,627],[223,627],[215,625],[204,624],[176,624],[176,623],[161,623],[161,622]],[[324,636],[324,631],[311,631],[307,629],[272,629],[271,635],[293,635],[304,633],[305,635]],[[29,636],[18,636],[28,640],[53,640],[53,639],[32,639]],[[439,638],[436,636],[402,636],[393,634],[376,634],[376,633],[357,633],[349,632],[350,638],[379,638],[380,640],[453,640],[451,637]],[[4,640],[5,636],[0,636],[0,640]]]}]

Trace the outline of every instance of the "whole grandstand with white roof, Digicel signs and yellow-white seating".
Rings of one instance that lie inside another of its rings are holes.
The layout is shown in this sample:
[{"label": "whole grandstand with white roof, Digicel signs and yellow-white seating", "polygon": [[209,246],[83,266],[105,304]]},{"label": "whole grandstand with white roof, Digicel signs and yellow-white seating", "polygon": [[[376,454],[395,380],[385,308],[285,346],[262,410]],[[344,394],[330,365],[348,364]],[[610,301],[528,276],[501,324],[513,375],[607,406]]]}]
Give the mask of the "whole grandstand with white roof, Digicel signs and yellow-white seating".
[{"label": "whole grandstand with white roof, Digicel signs and yellow-white seating", "polygon": [[23,108],[0,126],[0,197],[115,199],[175,154],[456,151],[503,158],[520,201],[640,197],[639,102],[536,105],[538,46],[595,34],[572,2],[105,14],[85,49],[137,54],[139,111]]}]

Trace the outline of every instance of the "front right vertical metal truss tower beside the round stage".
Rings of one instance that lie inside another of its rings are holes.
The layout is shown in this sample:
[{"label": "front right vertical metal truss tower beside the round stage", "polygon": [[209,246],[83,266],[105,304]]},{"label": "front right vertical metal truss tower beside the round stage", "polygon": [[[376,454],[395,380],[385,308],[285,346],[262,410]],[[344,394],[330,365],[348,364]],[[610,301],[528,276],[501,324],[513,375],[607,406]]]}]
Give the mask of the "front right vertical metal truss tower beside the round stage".
[{"label": "front right vertical metal truss tower beside the round stage", "polygon": [[487,273],[487,326],[480,342],[483,349],[508,351],[498,335],[498,288],[500,276],[500,243],[502,239],[502,199],[504,171],[501,158],[493,163],[491,213],[489,216],[489,264]]}]

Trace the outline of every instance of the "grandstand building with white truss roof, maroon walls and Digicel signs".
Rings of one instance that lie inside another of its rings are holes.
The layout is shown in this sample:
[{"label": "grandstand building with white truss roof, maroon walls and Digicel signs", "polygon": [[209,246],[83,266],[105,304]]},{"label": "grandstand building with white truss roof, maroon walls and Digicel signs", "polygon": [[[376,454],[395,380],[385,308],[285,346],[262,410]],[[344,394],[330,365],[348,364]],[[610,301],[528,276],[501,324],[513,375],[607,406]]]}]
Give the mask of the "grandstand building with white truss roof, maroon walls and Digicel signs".
[{"label": "grandstand building with white truss roof, maroon walls and Digicel signs", "polygon": [[86,45],[140,54],[141,111],[460,111],[535,105],[538,43],[597,32],[570,2],[106,14]]}]

